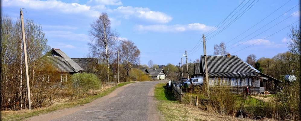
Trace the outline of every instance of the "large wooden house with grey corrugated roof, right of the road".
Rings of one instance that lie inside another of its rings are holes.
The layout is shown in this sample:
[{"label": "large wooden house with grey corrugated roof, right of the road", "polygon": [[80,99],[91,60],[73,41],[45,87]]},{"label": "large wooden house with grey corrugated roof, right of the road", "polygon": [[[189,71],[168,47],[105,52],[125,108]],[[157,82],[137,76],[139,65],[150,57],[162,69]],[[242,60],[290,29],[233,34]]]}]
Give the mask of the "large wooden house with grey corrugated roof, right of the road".
[{"label": "large wooden house with grey corrugated roof, right of the road", "polygon": [[[262,93],[266,82],[281,83],[273,77],[261,73],[237,56],[207,56],[208,79],[210,87],[226,86],[234,93],[242,93],[246,86],[250,93]],[[196,67],[198,68],[198,67]],[[205,75],[204,56],[201,56],[200,73]],[[205,77],[205,76],[204,76]]]}]

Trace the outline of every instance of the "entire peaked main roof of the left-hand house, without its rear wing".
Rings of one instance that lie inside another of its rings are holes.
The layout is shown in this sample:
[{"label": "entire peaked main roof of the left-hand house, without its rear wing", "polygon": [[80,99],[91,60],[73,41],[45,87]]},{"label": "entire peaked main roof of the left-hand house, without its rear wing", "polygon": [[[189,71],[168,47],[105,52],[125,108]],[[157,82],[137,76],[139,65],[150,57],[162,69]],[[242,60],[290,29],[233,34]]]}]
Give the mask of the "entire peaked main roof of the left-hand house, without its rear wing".
[{"label": "entire peaked main roof of the left-hand house, without its rear wing", "polygon": [[52,48],[47,57],[53,61],[53,66],[60,72],[78,72],[84,70],[60,49]]}]

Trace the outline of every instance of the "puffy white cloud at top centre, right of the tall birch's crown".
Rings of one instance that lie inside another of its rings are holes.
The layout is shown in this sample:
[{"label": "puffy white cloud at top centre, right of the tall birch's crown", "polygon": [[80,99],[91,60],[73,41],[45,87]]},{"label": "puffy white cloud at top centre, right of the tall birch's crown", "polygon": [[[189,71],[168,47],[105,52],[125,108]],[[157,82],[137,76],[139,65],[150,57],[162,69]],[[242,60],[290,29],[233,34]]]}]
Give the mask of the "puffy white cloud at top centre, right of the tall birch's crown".
[{"label": "puffy white cloud at top centre, right of the tall birch's crown", "polygon": [[172,17],[170,17],[169,15],[166,15],[165,13],[160,11],[151,11],[149,8],[120,6],[114,9],[113,11],[122,13],[125,19],[128,19],[131,16],[135,16],[137,18],[141,18],[155,23],[168,23],[172,20]]}]

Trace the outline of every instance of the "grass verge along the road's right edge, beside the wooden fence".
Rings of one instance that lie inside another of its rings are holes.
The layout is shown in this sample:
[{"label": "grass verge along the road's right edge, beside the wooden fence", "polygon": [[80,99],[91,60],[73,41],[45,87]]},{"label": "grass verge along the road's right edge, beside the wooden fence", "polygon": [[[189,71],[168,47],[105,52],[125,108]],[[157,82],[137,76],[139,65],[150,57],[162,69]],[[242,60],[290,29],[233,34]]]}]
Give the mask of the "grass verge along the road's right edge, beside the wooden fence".
[{"label": "grass verge along the road's right edge, beside the wooden fence", "polygon": [[155,97],[158,100],[157,108],[162,113],[162,121],[199,121],[199,120],[237,120],[246,121],[249,119],[218,116],[207,113],[193,106],[187,106],[175,100],[171,90],[166,88],[166,83],[158,83],[154,89]]}]

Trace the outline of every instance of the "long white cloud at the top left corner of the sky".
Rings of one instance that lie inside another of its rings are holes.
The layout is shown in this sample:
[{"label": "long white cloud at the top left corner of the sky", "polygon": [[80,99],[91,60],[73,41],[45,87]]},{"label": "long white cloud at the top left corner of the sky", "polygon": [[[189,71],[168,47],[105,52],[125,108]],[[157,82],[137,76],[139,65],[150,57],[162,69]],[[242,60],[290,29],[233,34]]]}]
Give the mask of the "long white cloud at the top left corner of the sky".
[{"label": "long white cloud at the top left corner of the sky", "polygon": [[4,0],[3,6],[19,6],[38,10],[53,10],[60,11],[62,13],[76,13],[85,14],[91,17],[98,17],[100,14],[98,11],[92,10],[91,6],[82,5],[78,3],[65,3],[57,0]]}]

